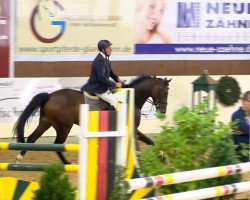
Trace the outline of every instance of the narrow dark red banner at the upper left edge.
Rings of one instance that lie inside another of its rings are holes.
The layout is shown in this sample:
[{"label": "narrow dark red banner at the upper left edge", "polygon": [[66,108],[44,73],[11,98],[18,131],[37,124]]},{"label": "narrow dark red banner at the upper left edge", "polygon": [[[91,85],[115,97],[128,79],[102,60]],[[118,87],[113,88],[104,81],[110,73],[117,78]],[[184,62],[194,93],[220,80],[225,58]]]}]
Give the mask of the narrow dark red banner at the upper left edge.
[{"label": "narrow dark red banner at the upper left edge", "polygon": [[0,0],[0,77],[9,76],[10,0]]}]

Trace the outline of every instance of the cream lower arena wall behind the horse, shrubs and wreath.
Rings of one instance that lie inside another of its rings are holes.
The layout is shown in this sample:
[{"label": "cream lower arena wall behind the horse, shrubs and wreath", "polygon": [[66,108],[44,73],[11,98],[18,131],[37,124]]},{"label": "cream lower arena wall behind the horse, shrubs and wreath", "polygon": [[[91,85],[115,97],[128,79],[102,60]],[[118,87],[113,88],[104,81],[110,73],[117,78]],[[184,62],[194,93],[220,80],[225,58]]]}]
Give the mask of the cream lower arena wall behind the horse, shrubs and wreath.
[{"label": "cream lower arena wall behind the horse, shrubs and wreath", "polygon": [[[214,80],[219,80],[220,77],[223,75],[211,75]],[[165,77],[165,76],[162,76]],[[192,89],[193,85],[192,82],[196,80],[199,76],[167,76],[167,78],[172,78],[170,82],[170,90],[169,90],[169,97],[168,97],[168,109],[167,109],[167,119],[166,121],[159,121],[157,119],[152,119],[152,113],[144,113],[149,114],[148,118],[144,117],[141,122],[139,129],[143,133],[159,133],[161,131],[161,125],[165,123],[172,124],[173,114],[174,112],[179,109],[181,106],[188,106],[191,107],[192,102]],[[249,80],[250,75],[232,75],[232,77],[236,78],[239,82],[242,92],[250,90],[249,87]],[[122,76],[123,79],[128,79],[128,77]],[[132,78],[132,77],[130,77]],[[85,77],[86,79],[86,77]],[[71,78],[71,81],[74,81],[74,78]],[[79,81],[79,78],[77,79]],[[203,93],[202,95],[206,95]],[[225,107],[217,102],[217,107],[219,108],[219,116],[217,118],[218,121],[228,123],[231,119],[231,114],[234,110],[236,110],[240,106],[241,102],[238,101],[234,106]],[[13,123],[0,123],[0,138],[3,137],[13,137],[12,129]],[[25,130],[26,136],[29,135],[32,130],[36,127],[36,123],[30,123]],[[70,135],[76,135],[80,132],[79,126],[75,125],[70,132]],[[51,128],[49,129],[46,136],[53,136],[55,135],[55,131]]]}]

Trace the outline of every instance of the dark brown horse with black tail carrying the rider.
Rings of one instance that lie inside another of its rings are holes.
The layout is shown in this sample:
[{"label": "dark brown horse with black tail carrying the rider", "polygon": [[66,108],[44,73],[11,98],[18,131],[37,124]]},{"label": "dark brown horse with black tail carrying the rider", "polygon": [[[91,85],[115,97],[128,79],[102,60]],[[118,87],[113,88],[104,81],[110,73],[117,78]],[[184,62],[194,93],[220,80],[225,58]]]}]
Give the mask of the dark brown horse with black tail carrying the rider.
[{"label": "dark brown horse with black tail carrying the rider", "polygon": [[[138,130],[141,121],[141,108],[149,97],[150,103],[161,113],[166,113],[169,82],[167,78],[154,76],[139,76],[130,84],[129,88],[135,91],[135,135],[136,138],[148,145],[154,142]],[[51,126],[56,130],[55,144],[66,141],[73,124],[79,125],[79,107],[84,104],[82,91],[73,89],[60,89],[52,93],[39,93],[35,95],[19,116],[14,126],[14,135],[18,143],[25,143],[24,127],[29,117],[40,108],[40,117],[37,128],[28,136],[26,143],[34,143]],[[20,162],[27,151],[22,150],[17,156]],[[62,152],[56,152],[64,164],[69,164]]]}]

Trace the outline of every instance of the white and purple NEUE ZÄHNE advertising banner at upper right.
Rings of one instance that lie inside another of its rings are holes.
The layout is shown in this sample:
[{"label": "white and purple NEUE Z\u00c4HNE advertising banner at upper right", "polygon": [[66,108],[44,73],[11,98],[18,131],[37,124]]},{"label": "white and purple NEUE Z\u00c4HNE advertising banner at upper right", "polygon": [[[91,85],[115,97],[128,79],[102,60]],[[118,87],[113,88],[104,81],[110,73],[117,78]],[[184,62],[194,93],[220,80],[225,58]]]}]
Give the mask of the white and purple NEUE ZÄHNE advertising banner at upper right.
[{"label": "white and purple NEUE Z\u00c4HNE advertising banner at upper right", "polygon": [[[155,29],[152,28],[151,37],[146,40],[142,37],[143,34],[137,36],[136,54],[250,53],[250,2],[165,2],[165,6],[162,6],[162,16],[158,14],[159,25],[155,25]],[[136,14],[139,15],[139,12]],[[149,9],[147,14],[150,15]],[[153,27],[153,21],[147,18],[147,14],[144,14],[145,21],[140,23],[148,23],[148,27],[151,23]],[[156,24],[156,21],[154,22]],[[135,27],[138,33],[142,32],[139,27]]]}]

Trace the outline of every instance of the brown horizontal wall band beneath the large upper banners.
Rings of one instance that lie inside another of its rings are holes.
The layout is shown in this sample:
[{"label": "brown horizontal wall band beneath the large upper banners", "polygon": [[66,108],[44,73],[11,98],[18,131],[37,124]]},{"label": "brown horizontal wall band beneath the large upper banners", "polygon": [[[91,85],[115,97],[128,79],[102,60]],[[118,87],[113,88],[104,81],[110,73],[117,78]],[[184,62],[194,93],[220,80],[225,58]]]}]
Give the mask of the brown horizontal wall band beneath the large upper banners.
[{"label": "brown horizontal wall band beneath the large upper banners", "polygon": [[[15,77],[84,77],[90,66],[87,61],[15,62],[14,71]],[[250,60],[112,61],[112,68],[120,76],[190,76],[204,69],[211,75],[250,75]]]}]

